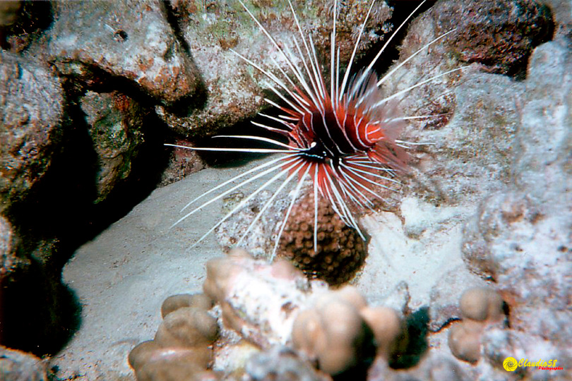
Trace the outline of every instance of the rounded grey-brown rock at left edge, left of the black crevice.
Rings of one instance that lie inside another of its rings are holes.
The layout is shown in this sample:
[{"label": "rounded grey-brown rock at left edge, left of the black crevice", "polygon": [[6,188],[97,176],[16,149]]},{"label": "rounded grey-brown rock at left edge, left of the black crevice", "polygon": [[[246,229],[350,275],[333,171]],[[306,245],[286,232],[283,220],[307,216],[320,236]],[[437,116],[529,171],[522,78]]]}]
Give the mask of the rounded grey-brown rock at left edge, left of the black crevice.
[{"label": "rounded grey-brown rock at left edge, left of the black crevice", "polygon": [[63,112],[60,80],[47,65],[0,50],[0,212],[46,173]]}]

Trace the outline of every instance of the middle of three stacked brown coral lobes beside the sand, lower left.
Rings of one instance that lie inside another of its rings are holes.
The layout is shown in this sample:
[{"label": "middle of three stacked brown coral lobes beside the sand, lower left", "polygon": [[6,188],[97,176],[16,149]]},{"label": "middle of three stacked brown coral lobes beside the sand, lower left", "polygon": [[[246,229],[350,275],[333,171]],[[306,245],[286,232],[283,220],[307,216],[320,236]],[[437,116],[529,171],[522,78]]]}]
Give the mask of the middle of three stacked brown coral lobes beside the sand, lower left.
[{"label": "middle of three stacked brown coral lobes beside the sand, lower left", "polygon": [[217,321],[205,310],[179,308],[165,316],[155,334],[161,346],[197,346],[212,343],[218,332]]}]

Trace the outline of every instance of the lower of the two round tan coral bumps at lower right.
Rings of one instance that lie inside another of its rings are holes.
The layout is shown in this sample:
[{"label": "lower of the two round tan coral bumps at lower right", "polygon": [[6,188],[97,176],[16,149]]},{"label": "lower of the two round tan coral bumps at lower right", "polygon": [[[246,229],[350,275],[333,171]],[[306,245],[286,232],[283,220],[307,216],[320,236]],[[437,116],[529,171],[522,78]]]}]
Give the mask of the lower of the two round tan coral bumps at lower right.
[{"label": "lower of the two round tan coral bumps at lower right", "polygon": [[475,321],[464,321],[449,330],[449,348],[456,358],[476,363],[481,357],[481,334],[483,325]]}]

